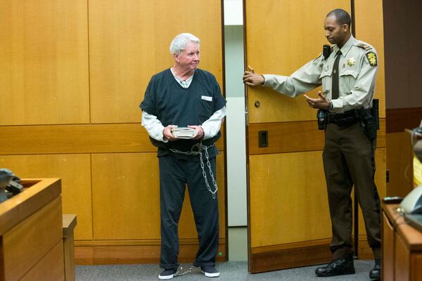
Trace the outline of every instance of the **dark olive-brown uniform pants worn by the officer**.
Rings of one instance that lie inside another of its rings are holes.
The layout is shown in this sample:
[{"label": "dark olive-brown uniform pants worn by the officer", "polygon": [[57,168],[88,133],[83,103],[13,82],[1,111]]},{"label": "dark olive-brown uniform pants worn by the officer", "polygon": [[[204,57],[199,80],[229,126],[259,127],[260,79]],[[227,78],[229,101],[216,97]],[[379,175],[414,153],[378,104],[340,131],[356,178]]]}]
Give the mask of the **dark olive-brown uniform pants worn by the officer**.
[{"label": "dark olive-brown uniform pants worn by the officer", "polygon": [[381,258],[380,200],[373,181],[376,140],[366,137],[359,122],[339,126],[328,124],[323,152],[333,239],[333,259],[352,256],[352,187],[366,228],[369,246]]}]

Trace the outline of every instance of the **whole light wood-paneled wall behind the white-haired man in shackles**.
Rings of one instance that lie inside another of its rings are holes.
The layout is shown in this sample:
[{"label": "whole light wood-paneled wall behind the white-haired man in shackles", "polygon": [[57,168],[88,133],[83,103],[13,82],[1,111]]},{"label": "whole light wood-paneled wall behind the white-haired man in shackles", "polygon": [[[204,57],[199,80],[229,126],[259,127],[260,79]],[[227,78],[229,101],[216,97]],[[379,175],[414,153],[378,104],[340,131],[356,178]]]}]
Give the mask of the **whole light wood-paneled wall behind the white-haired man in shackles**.
[{"label": "whole light wood-paneled wall behind the white-haired man in shackles", "polygon": [[[170,42],[181,32],[201,39],[200,67],[223,88],[220,0],[0,0],[0,167],[62,178],[79,263],[158,261],[158,159],[138,105],[151,76],[172,66]],[[217,145],[224,259],[224,141]],[[183,259],[194,259],[188,197],[179,234]]]}]

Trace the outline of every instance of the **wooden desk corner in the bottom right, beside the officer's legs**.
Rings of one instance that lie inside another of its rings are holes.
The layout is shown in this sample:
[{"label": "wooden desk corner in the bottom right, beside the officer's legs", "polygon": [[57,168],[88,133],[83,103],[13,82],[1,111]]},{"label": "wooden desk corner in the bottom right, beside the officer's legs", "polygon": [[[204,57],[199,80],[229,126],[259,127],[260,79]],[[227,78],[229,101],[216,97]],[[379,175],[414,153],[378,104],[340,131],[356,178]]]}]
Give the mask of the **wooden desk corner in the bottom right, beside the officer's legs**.
[{"label": "wooden desk corner in the bottom right, beside the officer's legs", "polygon": [[384,281],[422,281],[422,233],[409,226],[394,209],[383,204]]}]

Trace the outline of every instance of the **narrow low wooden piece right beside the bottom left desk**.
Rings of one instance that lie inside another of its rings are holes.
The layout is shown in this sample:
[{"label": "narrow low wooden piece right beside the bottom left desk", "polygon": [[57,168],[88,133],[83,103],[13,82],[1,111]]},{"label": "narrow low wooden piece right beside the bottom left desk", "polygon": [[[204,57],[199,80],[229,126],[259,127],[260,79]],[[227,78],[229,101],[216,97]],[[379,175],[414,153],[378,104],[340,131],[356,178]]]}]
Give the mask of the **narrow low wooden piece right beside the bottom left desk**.
[{"label": "narrow low wooden piece right beside the bottom left desk", "polygon": [[75,281],[75,247],[73,230],[76,226],[75,214],[63,214],[63,253],[65,258],[65,281]]}]

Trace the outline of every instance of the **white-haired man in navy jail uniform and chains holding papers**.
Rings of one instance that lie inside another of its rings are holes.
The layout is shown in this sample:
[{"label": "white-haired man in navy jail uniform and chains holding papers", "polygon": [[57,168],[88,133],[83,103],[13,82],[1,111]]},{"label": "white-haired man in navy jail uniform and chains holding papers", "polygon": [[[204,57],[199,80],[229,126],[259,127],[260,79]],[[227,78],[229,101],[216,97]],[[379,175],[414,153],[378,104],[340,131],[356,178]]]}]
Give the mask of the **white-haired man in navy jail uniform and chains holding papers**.
[{"label": "white-haired man in navy jail uniform and chains holding papers", "polygon": [[189,33],[173,39],[174,65],[151,78],[140,105],[142,125],[158,147],[160,267],[164,268],[160,280],[181,275],[177,227],[186,184],[199,239],[193,266],[200,266],[207,277],[219,276],[215,269],[219,247],[215,142],[226,116],[226,101],[214,75],[198,69],[199,43]]}]

